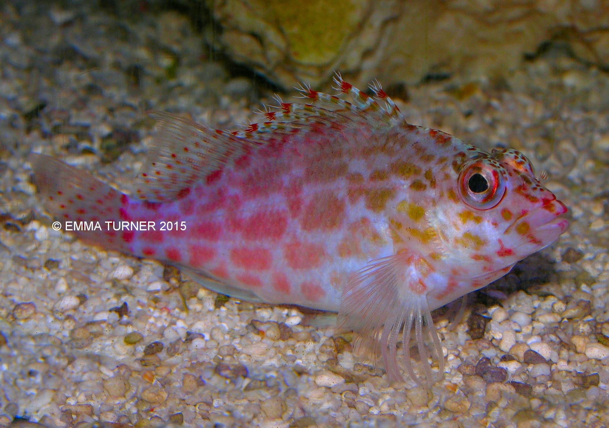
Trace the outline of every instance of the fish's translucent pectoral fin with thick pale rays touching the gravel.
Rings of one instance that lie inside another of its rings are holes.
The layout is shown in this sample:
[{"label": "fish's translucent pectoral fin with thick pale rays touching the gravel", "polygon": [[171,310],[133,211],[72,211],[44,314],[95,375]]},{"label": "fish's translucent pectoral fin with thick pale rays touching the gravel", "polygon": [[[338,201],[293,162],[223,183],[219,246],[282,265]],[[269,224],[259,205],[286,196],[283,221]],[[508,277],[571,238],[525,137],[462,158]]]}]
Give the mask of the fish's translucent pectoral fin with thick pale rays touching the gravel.
[{"label": "fish's translucent pectoral fin with thick pale rays touching the gravel", "polygon": [[[364,348],[373,357],[380,354],[390,380],[404,381],[398,364],[401,359],[410,378],[417,384],[431,386],[443,376],[444,356],[418,276],[418,260],[408,254],[385,257],[354,275],[343,290],[338,324],[339,328],[358,334],[357,348]],[[415,373],[410,352],[413,330],[423,367],[420,375]],[[435,364],[438,371],[434,374]]]}]

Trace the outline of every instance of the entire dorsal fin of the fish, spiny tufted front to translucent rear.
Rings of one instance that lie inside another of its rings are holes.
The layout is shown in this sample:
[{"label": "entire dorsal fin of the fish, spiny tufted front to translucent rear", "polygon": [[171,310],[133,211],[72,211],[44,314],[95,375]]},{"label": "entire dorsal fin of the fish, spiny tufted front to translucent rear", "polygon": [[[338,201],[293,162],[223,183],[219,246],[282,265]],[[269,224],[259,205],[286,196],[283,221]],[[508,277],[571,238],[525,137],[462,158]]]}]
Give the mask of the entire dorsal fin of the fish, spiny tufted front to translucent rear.
[{"label": "entire dorsal fin of the fish, spiny tufted front to translucent rear", "polygon": [[[139,177],[136,196],[155,202],[179,199],[193,184],[234,159],[293,134],[312,129],[339,132],[347,126],[389,129],[403,120],[395,103],[378,83],[370,86],[375,93],[375,97],[370,97],[342,80],[340,74],[334,82],[335,89],[347,94],[351,102],[300,86],[301,98],[306,98],[308,103],[284,103],[276,97],[279,105],[267,106],[266,111],[261,112],[264,122],[250,123],[241,131],[220,131],[175,114],[149,112],[158,122],[157,134]],[[375,98],[384,101],[385,107]]]}]

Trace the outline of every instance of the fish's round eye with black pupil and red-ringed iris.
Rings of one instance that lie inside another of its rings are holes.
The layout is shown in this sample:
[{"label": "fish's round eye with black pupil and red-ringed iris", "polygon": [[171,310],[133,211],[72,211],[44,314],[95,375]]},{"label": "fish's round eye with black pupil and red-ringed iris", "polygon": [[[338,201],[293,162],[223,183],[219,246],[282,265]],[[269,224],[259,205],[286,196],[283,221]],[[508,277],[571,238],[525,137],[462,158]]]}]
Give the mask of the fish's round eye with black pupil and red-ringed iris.
[{"label": "fish's round eye with black pupil and red-ringed iris", "polygon": [[505,176],[492,159],[472,159],[459,174],[459,193],[463,202],[477,210],[495,207],[505,194]]}]

